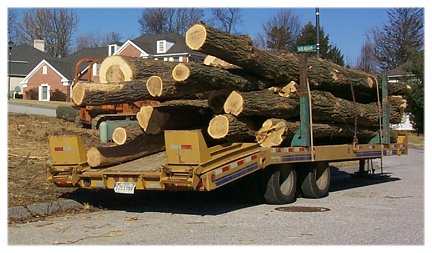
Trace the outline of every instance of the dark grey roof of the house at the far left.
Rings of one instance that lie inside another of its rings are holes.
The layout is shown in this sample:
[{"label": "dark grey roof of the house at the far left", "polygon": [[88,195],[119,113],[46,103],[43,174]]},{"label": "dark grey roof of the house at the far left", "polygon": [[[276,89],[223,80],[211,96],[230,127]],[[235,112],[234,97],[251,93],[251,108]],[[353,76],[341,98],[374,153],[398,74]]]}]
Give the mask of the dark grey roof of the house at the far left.
[{"label": "dark grey roof of the house at the far left", "polygon": [[12,47],[11,59],[10,75],[24,77],[43,59],[56,60],[57,58],[32,46],[23,44]]}]

